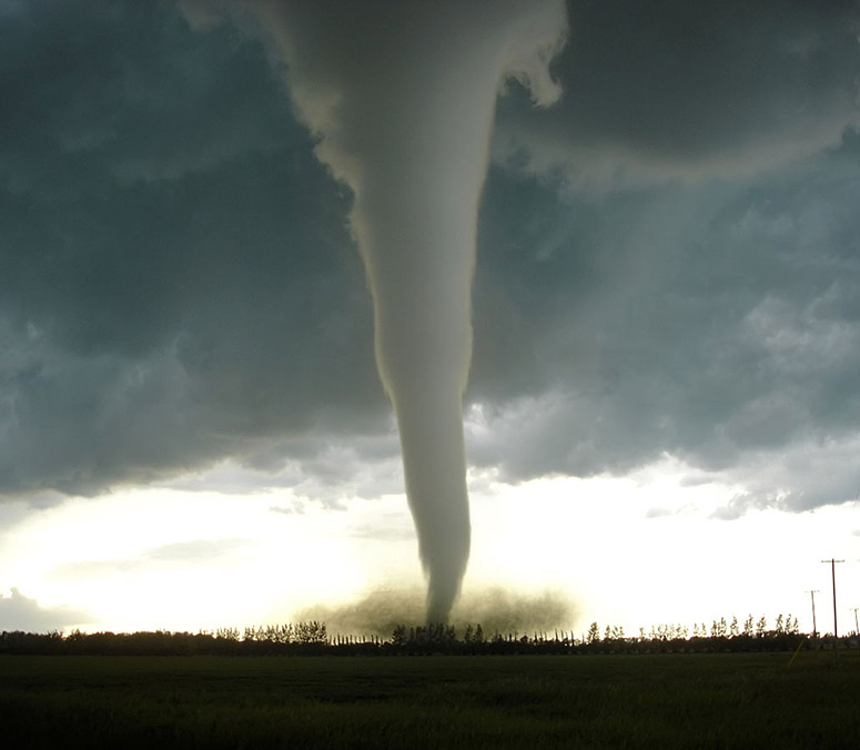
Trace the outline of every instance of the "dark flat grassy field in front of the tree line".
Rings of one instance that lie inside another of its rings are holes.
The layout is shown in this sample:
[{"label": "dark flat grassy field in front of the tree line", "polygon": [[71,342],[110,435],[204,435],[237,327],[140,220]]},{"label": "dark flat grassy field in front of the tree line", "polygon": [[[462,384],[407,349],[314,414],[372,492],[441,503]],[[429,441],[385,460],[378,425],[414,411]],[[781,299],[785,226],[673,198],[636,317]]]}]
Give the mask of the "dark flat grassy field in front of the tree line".
[{"label": "dark flat grassy field in front of the tree line", "polygon": [[860,657],[0,656],[19,748],[860,748]]}]

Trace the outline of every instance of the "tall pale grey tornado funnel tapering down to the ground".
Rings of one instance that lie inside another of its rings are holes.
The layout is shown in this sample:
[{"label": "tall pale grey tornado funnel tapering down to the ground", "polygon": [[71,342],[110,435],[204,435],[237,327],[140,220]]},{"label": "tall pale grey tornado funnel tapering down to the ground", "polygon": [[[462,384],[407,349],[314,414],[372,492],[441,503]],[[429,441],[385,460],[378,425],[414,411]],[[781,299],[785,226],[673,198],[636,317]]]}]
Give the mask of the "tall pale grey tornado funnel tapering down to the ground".
[{"label": "tall pale grey tornado funnel tapering down to the ground", "polygon": [[469,556],[463,395],[472,357],[477,217],[496,98],[514,79],[538,105],[561,0],[256,0],[315,153],[353,194],[373,297],[376,364],[399,430],[427,584],[446,621]]}]

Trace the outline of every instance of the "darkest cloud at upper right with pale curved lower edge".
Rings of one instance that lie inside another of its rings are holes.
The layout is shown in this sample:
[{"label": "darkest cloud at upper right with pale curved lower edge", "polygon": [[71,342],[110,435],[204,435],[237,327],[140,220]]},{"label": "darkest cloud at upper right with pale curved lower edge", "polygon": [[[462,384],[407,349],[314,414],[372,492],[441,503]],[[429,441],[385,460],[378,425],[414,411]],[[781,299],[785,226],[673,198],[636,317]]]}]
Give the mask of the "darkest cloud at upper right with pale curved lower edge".
[{"label": "darkest cloud at upper right with pale curved lower edge", "polygon": [[860,122],[850,0],[568,7],[563,103],[535,120],[503,102],[503,161],[591,188],[707,179],[812,153]]}]

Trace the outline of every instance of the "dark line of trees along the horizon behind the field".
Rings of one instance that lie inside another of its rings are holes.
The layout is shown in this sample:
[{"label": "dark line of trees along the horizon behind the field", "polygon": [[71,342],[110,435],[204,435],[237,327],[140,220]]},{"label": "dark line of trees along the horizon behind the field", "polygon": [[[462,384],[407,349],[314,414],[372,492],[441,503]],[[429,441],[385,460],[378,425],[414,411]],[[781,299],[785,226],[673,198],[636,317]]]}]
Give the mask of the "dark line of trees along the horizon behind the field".
[{"label": "dark line of trees along the horizon behind the field", "polygon": [[[660,625],[646,634],[627,637],[623,628],[600,629],[593,622],[581,637],[554,631],[532,635],[486,634],[480,625],[466,626],[462,634],[449,625],[394,628],[389,638],[378,636],[331,636],[324,622],[310,621],[245,628],[220,628],[215,631],[84,634],[74,630],[29,634],[0,634],[0,653],[79,653],[79,655],[429,655],[429,653],[655,653],[707,651],[793,650],[807,640],[811,648],[832,643],[832,638],[807,637],[799,632],[797,618],[777,618],[768,629],[761,617],[747,618],[742,627],[737,618],[714,620],[710,628],[696,625],[692,635],[680,625]],[[842,648],[857,647],[857,638],[840,639]]]}]

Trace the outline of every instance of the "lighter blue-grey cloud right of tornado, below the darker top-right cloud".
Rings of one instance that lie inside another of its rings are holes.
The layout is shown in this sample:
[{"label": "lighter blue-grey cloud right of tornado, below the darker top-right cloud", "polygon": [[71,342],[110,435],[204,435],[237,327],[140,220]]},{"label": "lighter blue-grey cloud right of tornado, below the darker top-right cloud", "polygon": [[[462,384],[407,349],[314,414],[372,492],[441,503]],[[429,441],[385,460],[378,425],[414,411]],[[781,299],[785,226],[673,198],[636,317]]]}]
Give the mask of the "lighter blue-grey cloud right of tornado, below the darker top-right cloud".
[{"label": "lighter blue-grey cloud right of tornado, below the darker top-right cloud", "polygon": [[[669,452],[740,473],[762,452],[850,444],[856,141],[755,181],[548,204],[522,226],[504,205],[487,216],[477,285],[489,293],[475,315],[489,356],[476,357],[471,388],[487,425],[471,435],[472,459],[525,478],[624,472]],[[792,473],[781,487],[803,504],[844,499],[812,490],[824,476]]]}]

